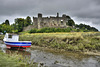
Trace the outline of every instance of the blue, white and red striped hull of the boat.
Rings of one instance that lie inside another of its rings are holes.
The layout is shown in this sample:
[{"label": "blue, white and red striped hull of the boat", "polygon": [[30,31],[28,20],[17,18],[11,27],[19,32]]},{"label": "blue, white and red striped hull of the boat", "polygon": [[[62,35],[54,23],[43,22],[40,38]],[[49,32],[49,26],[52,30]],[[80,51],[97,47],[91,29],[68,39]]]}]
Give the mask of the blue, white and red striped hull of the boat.
[{"label": "blue, white and red striped hull of the boat", "polygon": [[31,42],[30,41],[18,41],[18,42],[8,42],[4,41],[7,47],[31,47]]}]

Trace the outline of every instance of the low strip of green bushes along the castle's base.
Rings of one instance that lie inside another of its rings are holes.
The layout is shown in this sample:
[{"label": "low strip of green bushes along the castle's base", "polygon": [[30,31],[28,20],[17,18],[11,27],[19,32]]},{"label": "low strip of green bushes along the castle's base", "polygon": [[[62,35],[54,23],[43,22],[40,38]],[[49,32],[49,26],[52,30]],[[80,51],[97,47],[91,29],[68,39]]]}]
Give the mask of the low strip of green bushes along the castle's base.
[{"label": "low strip of green bushes along the castle's base", "polygon": [[67,28],[41,28],[41,29],[31,29],[29,33],[51,33],[51,32],[90,32],[91,30],[85,29],[85,27],[82,27],[82,29],[75,29],[72,27]]}]

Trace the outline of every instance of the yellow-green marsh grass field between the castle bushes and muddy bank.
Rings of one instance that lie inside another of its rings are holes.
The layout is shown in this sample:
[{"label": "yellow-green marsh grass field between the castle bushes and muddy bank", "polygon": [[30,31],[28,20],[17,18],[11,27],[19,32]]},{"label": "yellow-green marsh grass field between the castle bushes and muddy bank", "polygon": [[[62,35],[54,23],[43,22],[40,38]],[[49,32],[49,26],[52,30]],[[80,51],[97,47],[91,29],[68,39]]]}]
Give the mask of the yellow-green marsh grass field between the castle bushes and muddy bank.
[{"label": "yellow-green marsh grass field between the castle bushes and muddy bank", "polygon": [[100,51],[100,32],[24,33],[20,40],[67,51]]}]

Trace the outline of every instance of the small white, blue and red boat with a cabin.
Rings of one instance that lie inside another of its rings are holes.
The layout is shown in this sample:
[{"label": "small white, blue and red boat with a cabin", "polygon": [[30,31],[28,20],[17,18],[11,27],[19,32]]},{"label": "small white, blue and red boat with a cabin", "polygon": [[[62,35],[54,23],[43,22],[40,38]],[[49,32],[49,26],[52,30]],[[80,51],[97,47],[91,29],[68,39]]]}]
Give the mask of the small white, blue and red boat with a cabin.
[{"label": "small white, blue and red boat with a cabin", "polygon": [[19,41],[19,35],[14,33],[6,33],[3,39],[7,48],[28,48],[31,47],[31,41]]}]

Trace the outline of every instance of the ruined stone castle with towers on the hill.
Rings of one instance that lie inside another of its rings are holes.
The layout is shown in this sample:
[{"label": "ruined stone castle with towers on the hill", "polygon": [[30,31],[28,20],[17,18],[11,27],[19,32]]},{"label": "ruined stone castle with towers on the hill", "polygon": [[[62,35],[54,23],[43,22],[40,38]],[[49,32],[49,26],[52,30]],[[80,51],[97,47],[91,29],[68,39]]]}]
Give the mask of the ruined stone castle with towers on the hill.
[{"label": "ruined stone castle with towers on the hill", "polygon": [[33,17],[33,27],[37,29],[43,27],[67,28],[68,20],[72,19],[65,14],[62,17],[59,17],[59,13],[57,13],[56,17],[42,17],[42,14],[38,13],[38,17]]}]

